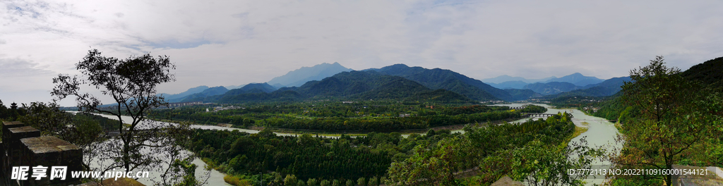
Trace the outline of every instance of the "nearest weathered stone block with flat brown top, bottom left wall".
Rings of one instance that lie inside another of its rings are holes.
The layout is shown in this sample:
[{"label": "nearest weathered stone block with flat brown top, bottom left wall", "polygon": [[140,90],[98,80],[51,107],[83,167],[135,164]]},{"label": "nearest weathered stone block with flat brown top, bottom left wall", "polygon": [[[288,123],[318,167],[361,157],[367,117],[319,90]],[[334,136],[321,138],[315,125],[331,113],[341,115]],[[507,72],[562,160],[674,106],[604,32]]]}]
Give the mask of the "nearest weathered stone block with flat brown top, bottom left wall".
[{"label": "nearest weathered stone block with flat brown top, bottom left wall", "polygon": [[[27,180],[21,185],[64,185],[77,183],[80,179],[71,177],[71,172],[82,170],[82,149],[74,144],[61,140],[55,136],[41,136],[37,138],[22,138],[22,149],[24,154],[23,166],[36,167],[38,165],[48,167],[47,176],[41,180]],[[51,167],[67,167],[65,180],[50,180]]]}]

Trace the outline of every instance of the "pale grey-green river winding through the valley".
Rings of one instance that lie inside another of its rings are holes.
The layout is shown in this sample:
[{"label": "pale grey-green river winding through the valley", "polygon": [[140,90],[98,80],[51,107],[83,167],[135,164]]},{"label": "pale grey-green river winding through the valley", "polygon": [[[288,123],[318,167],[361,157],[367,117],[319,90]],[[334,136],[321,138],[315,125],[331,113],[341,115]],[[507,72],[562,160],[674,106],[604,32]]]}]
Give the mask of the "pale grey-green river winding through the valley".
[{"label": "pale grey-green river winding through the valley", "polygon": [[[505,105],[494,105],[494,106],[509,106],[509,107],[520,107],[523,105],[528,104],[505,104]],[[583,122],[589,123],[586,127],[589,129],[582,133],[580,136],[577,136],[576,138],[573,138],[570,143],[573,141],[579,141],[580,138],[586,137],[586,141],[588,143],[588,146],[594,147],[594,146],[616,146],[620,147],[619,144],[615,143],[615,136],[617,135],[617,128],[615,128],[615,125],[613,123],[608,122],[604,118],[597,118],[590,115],[585,115],[585,113],[575,110],[575,109],[568,109],[568,110],[560,110],[560,109],[554,109],[549,108],[549,105],[544,104],[534,104],[539,105],[542,107],[547,107],[547,112],[549,114],[557,114],[557,112],[568,112],[573,115],[573,123],[578,126],[583,126]],[[117,120],[115,116],[111,115],[101,115],[106,118]],[[121,119],[124,121],[127,121],[127,123],[130,123],[129,121],[132,121],[132,118],[129,116],[121,116]],[[529,118],[524,118],[521,120],[515,120],[513,123],[521,123]],[[174,123],[165,123],[161,122],[165,125],[174,125]],[[213,126],[213,125],[191,125],[191,128],[201,128],[201,129],[210,129],[210,130],[239,130],[241,132],[247,132],[247,133],[259,133],[259,130],[249,130],[249,129],[243,129],[243,128],[228,128],[228,127],[221,127],[221,126]],[[453,133],[464,133],[463,130],[453,130]],[[291,133],[276,133],[278,136],[296,136],[296,134]],[[424,133],[422,133],[424,135]],[[325,136],[325,135],[320,135]],[[408,135],[403,135],[404,137]],[[338,136],[325,136],[330,138],[338,138]],[[195,159],[193,161],[193,164],[196,164],[198,166],[196,173],[197,177],[201,178],[205,175],[202,173],[205,173],[203,167],[205,167],[205,163],[201,161],[200,159]],[[595,161],[593,162],[594,165],[608,165],[609,162],[607,161]],[[228,185],[228,183],[223,181],[223,177],[225,174],[218,172],[216,170],[212,170],[210,172],[210,177],[208,178],[208,185]],[[145,185],[153,185],[150,180],[146,179],[139,179],[139,182],[142,182]],[[602,179],[594,179],[594,180],[585,180],[587,182],[587,185],[591,184],[601,184],[604,180]]]}]

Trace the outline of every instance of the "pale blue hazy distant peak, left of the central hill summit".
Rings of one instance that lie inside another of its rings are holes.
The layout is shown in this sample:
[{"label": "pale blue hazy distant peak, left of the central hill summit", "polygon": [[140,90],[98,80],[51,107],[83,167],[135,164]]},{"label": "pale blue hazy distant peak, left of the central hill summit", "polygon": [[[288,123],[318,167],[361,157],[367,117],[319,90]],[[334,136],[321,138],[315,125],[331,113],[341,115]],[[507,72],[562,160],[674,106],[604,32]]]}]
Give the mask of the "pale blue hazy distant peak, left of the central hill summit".
[{"label": "pale blue hazy distant peak, left of the central hill summit", "polygon": [[343,71],[353,70],[351,68],[341,66],[339,63],[321,63],[312,67],[301,67],[294,71],[289,71],[285,75],[275,77],[267,83],[276,88],[300,87],[307,81],[322,80]]}]

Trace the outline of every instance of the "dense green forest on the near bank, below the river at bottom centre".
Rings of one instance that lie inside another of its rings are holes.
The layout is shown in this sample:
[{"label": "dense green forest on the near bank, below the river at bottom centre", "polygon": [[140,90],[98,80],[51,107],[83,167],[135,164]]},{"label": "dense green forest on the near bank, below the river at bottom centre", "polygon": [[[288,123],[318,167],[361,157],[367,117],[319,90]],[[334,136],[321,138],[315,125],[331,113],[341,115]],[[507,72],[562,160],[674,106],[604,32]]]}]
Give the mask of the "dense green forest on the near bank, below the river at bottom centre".
[{"label": "dense green forest on the near bank, below the river at bottom centre", "polygon": [[[261,180],[274,185],[291,185],[290,182],[294,182],[294,185],[324,185],[324,182],[332,185],[448,185],[450,182],[484,185],[508,174],[515,178],[540,179],[528,177],[531,172],[553,168],[553,164],[568,168],[584,166],[573,164],[566,156],[555,156],[552,152],[505,155],[526,151],[531,146],[567,151],[563,149],[569,149],[565,146],[574,130],[570,115],[566,113],[547,120],[529,120],[520,125],[468,125],[464,134],[429,130],[424,136],[412,134],[406,138],[399,133],[369,133],[356,138],[318,138],[309,134],[276,136],[269,130],[256,134],[197,130],[189,149],[211,167],[231,174],[226,177],[226,181],[236,185],[259,185]],[[492,136],[495,138],[490,138]],[[450,151],[465,153],[444,155]],[[434,156],[447,158],[439,159],[437,164],[427,165],[433,167],[424,166],[424,161]],[[529,161],[543,156],[551,159],[544,162],[549,164]],[[495,172],[484,171],[463,180],[447,177],[449,172],[496,167],[498,164],[492,163],[492,159],[507,159],[520,164],[496,169]],[[534,168],[529,169],[533,164]],[[563,176],[560,172],[550,174]],[[578,182],[572,177],[561,180]]]}]

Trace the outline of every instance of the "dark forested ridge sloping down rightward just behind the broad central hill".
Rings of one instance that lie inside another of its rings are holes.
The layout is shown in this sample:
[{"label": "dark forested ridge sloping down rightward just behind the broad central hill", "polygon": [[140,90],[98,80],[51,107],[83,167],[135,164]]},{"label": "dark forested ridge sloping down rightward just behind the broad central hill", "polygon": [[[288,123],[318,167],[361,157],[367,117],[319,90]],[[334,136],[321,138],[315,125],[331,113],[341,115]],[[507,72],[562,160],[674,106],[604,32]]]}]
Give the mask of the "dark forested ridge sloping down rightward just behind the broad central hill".
[{"label": "dark forested ridge sloping down rightward just behind the broad central hill", "polygon": [[384,68],[370,68],[366,71],[377,71],[382,74],[401,76],[416,81],[430,89],[446,89],[475,100],[515,100],[515,97],[509,92],[446,69],[427,69],[419,66],[409,67],[404,64],[395,64],[393,66],[385,66]]}]

